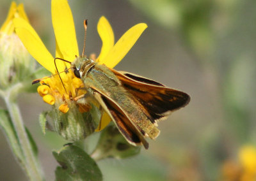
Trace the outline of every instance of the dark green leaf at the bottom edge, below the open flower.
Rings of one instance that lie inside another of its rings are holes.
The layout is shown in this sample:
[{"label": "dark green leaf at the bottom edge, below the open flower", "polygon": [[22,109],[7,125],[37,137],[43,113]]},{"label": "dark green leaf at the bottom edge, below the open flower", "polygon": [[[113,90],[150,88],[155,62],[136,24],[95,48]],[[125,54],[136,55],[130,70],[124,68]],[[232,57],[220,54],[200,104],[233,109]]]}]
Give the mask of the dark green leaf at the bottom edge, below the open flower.
[{"label": "dark green leaf at the bottom edge, below the open flower", "polygon": [[56,180],[102,180],[97,164],[81,148],[65,145],[59,152],[52,154],[61,165],[55,170]]}]

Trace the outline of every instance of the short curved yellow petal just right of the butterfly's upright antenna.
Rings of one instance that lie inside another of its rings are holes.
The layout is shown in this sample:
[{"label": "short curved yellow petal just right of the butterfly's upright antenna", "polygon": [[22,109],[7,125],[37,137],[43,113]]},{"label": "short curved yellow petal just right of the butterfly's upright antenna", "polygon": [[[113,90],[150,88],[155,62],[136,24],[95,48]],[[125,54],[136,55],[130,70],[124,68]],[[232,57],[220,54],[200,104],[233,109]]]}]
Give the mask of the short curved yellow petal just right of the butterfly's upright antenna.
[{"label": "short curved yellow petal just right of the butterfly's upright antenna", "polygon": [[97,62],[100,62],[106,57],[106,55],[108,55],[111,48],[113,48],[115,38],[111,25],[105,17],[100,18],[97,25],[97,30],[102,40],[100,55],[97,58]]}]

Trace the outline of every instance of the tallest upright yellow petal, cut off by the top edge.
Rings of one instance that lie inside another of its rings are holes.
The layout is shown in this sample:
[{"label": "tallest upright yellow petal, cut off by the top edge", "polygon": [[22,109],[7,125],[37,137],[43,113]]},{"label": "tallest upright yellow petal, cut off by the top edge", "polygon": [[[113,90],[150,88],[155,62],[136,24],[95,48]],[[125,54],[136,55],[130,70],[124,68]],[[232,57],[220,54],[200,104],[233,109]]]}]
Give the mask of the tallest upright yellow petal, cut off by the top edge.
[{"label": "tallest upright yellow petal, cut off by the top edge", "polygon": [[52,0],[52,25],[63,58],[74,61],[79,52],[74,20],[67,0]]}]

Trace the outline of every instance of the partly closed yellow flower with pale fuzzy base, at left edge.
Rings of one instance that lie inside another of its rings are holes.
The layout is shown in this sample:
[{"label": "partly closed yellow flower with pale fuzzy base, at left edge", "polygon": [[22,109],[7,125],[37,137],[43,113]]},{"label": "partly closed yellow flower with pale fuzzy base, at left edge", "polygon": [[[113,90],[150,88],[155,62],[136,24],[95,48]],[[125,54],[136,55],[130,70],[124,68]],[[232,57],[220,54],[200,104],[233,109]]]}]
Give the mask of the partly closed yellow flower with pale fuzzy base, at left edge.
[{"label": "partly closed yellow flower with pale fuzzy base, at left edge", "polygon": [[35,63],[14,32],[13,19],[28,22],[23,4],[12,3],[8,16],[0,29],[0,89],[24,80],[33,71]]}]

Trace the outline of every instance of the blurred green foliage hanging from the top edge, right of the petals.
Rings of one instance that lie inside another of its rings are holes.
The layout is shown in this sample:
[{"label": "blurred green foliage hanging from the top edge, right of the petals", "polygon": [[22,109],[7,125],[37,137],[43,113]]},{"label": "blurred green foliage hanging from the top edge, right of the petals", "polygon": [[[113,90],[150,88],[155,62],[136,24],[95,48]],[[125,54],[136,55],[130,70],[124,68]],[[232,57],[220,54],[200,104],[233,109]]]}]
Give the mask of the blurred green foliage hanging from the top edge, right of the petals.
[{"label": "blurred green foliage hanging from the top edge, right of the petals", "polygon": [[[200,58],[212,56],[218,29],[232,20],[237,1],[130,0],[156,24],[179,31],[188,48]],[[224,24],[223,24],[224,22]],[[209,57],[208,57],[209,58]],[[204,63],[204,61],[202,63]]]}]

